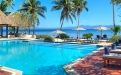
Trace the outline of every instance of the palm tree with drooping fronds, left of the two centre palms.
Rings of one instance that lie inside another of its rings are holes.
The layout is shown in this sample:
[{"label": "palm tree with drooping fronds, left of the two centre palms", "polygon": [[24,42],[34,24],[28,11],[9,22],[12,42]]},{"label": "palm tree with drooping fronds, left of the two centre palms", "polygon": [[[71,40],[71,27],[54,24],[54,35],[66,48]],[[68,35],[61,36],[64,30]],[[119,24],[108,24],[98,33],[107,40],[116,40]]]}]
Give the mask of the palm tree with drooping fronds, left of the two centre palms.
[{"label": "palm tree with drooping fronds, left of the two centre palms", "polygon": [[67,21],[70,19],[71,22],[73,23],[72,16],[75,18],[74,15],[75,12],[74,12],[74,3],[71,0],[54,0],[52,1],[52,4],[55,5],[51,9],[52,11],[62,10],[60,17],[60,22],[61,22],[60,30],[62,30],[64,19],[66,19]]}]

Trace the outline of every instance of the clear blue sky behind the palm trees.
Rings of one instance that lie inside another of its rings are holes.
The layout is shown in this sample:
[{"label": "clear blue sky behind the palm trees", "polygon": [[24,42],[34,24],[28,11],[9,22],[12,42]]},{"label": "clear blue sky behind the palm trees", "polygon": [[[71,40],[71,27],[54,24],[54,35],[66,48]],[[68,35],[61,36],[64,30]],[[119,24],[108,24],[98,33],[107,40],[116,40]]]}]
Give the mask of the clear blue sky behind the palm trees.
[{"label": "clear blue sky behind the palm trees", "polygon": [[[61,10],[51,11],[52,0],[40,0],[41,6],[46,6],[47,12],[45,12],[46,19],[39,16],[40,25],[39,28],[56,28],[60,27],[60,15]],[[87,12],[85,9],[81,12],[80,15],[80,26],[81,25],[113,25],[113,16],[112,16],[112,5],[110,4],[111,0],[87,0]],[[7,11],[16,12],[20,9],[20,4],[24,0],[15,0],[14,9],[9,9]],[[121,9],[119,6],[115,6],[115,23],[116,25],[121,25]],[[73,18],[73,24],[71,21],[64,21],[63,27],[73,27],[77,26],[78,18]]]}]

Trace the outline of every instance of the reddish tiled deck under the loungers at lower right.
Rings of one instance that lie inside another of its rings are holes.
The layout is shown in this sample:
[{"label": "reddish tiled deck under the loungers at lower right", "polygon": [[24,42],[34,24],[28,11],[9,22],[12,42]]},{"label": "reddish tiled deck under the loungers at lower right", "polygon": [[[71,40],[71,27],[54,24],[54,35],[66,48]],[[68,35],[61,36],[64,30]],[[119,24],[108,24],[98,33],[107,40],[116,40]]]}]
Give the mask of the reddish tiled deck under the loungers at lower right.
[{"label": "reddish tiled deck under the loungers at lower right", "polygon": [[93,54],[73,65],[79,75],[121,75],[121,62],[111,61],[106,68],[103,67],[102,55],[104,50]]}]

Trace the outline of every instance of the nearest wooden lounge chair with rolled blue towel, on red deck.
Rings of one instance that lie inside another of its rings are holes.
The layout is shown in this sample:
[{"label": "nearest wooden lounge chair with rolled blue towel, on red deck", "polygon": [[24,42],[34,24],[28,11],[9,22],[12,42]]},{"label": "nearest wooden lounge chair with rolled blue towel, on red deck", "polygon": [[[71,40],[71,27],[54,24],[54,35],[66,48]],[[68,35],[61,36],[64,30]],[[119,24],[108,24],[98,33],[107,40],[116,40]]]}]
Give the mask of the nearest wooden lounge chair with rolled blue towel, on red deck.
[{"label": "nearest wooden lounge chair with rolled blue towel, on red deck", "polygon": [[109,64],[109,61],[119,61],[121,62],[121,54],[116,53],[110,53],[110,50],[108,47],[104,48],[105,54],[103,54],[103,61],[104,61],[104,67],[106,67],[106,63]]}]

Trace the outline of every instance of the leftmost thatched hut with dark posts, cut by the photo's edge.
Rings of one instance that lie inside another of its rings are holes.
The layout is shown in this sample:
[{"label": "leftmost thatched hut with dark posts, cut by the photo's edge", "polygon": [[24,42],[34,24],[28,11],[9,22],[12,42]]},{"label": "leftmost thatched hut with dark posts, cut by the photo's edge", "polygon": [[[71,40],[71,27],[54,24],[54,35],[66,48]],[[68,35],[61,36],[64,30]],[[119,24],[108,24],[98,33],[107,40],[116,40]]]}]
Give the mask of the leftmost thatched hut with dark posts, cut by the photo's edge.
[{"label": "leftmost thatched hut with dark posts, cut by the photo's edge", "polygon": [[3,26],[6,26],[6,37],[8,37],[8,26],[14,23],[0,10],[1,36],[3,36]]}]

